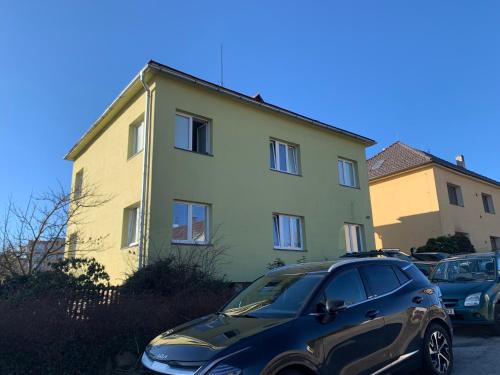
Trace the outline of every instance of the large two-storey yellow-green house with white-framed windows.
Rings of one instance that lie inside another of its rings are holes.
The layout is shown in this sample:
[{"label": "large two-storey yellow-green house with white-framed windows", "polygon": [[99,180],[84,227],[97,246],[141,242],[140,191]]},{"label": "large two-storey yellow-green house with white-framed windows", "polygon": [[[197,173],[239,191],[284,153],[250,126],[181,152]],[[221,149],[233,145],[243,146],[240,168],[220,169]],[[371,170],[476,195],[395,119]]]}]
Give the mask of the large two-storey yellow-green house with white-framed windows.
[{"label": "large two-storey yellow-green house with white-framed windows", "polygon": [[234,281],[276,258],[371,249],[373,144],[151,61],[66,155],[75,192],[89,184],[112,197],[79,235],[103,238],[92,256],[115,283],[172,247],[209,251],[215,239]]}]

